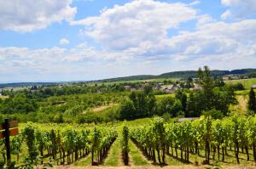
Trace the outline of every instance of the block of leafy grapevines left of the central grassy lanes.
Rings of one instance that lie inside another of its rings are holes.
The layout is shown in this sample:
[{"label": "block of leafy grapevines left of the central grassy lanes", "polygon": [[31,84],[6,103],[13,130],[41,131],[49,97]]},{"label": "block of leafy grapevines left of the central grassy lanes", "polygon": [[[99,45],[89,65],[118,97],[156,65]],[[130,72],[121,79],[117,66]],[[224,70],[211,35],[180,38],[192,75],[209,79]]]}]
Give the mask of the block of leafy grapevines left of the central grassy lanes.
[{"label": "block of leafy grapevines left of the central grassy lanes", "polygon": [[[17,156],[17,161],[20,161],[20,155],[26,155],[34,165],[38,162],[43,164],[43,159],[47,157],[57,161],[57,164],[71,164],[90,152],[91,163],[96,164],[103,160],[116,137],[117,132],[108,128],[89,130],[62,127],[47,130],[29,123],[19,135],[11,138],[10,145],[11,153]],[[0,141],[5,163],[3,140]]]}]

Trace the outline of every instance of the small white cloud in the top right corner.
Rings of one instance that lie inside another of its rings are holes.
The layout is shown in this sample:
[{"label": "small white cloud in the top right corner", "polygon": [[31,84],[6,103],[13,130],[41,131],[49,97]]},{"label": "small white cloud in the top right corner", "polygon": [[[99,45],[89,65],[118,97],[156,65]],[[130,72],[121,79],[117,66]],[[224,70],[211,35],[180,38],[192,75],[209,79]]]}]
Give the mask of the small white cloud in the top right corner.
[{"label": "small white cloud in the top right corner", "polygon": [[221,16],[223,20],[229,18],[241,20],[256,14],[255,0],[221,0],[221,3],[229,7]]}]

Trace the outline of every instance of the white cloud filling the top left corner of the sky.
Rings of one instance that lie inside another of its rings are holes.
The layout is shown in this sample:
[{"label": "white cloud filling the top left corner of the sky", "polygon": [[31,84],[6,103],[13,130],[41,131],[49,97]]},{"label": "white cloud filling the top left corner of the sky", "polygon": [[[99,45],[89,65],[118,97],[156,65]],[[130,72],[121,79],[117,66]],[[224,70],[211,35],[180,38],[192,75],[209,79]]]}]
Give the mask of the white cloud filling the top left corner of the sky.
[{"label": "white cloud filling the top left corner of the sky", "polygon": [[28,32],[73,20],[77,8],[71,3],[72,0],[0,0],[0,30]]}]

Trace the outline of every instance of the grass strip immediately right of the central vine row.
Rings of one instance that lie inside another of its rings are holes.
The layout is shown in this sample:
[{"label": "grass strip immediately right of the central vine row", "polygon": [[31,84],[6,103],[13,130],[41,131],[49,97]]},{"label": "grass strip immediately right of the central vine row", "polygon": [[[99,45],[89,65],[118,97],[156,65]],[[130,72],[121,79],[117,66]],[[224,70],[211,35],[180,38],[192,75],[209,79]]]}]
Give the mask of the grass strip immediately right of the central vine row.
[{"label": "grass strip immediately right of the central vine row", "polygon": [[129,158],[133,165],[135,166],[148,166],[148,161],[143,157],[142,152],[137,148],[135,144],[129,140]]}]

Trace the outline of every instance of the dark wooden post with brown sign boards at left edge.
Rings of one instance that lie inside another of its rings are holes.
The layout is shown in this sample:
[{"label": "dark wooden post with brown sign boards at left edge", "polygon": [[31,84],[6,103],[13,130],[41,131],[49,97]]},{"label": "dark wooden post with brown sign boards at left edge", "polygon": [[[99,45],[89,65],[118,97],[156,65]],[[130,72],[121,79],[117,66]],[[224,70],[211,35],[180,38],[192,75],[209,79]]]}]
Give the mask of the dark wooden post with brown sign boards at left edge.
[{"label": "dark wooden post with brown sign boards at left edge", "polygon": [[7,166],[11,163],[9,137],[19,134],[17,127],[18,121],[9,121],[9,119],[4,119],[4,123],[0,124],[0,138],[5,140]]}]

